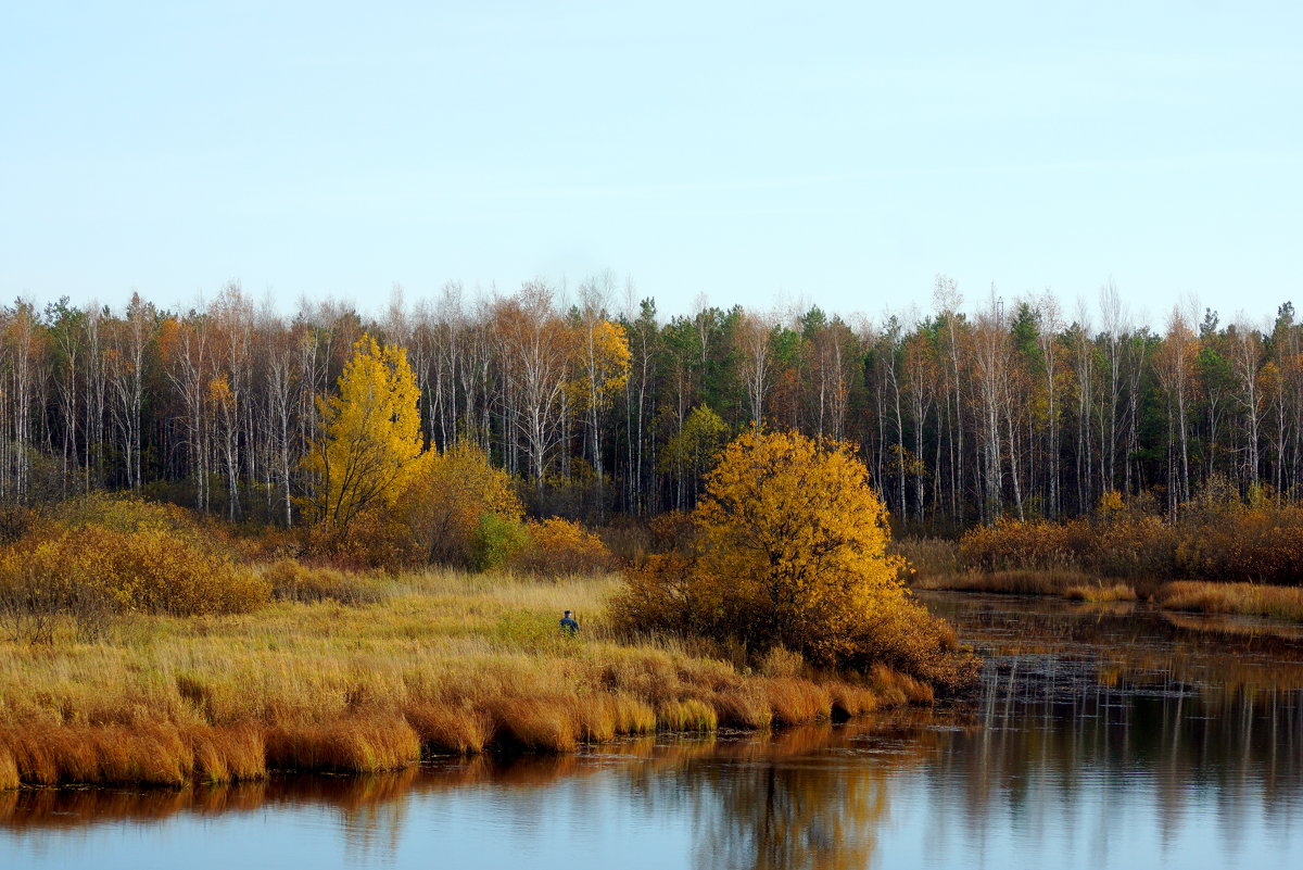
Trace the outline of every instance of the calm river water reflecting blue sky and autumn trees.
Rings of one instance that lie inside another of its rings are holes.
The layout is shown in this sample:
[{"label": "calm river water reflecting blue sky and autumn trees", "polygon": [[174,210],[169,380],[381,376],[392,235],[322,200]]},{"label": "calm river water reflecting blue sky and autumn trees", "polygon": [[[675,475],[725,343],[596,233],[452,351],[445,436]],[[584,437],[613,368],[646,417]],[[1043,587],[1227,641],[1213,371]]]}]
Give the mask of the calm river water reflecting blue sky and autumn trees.
[{"label": "calm river water reflecting blue sky and autumn trees", "polygon": [[1303,867],[1303,639],[932,594],[981,693],[773,738],[0,794],[0,867]]}]

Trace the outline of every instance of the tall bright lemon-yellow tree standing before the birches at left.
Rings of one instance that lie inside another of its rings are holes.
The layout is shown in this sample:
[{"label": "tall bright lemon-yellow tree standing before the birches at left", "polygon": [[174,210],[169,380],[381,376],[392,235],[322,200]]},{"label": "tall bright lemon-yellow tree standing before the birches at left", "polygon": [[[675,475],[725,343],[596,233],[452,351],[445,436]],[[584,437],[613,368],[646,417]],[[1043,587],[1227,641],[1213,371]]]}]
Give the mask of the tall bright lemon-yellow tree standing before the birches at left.
[{"label": "tall bright lemon-yellow tree standing before the birches at left", "polygon": [[339,395],[317,400],[322,435],[304,458],[311,518],[344,531],[367,508],[394,504],[421,456],[420,395],[403,348],[369,335],[353,344]]}]

